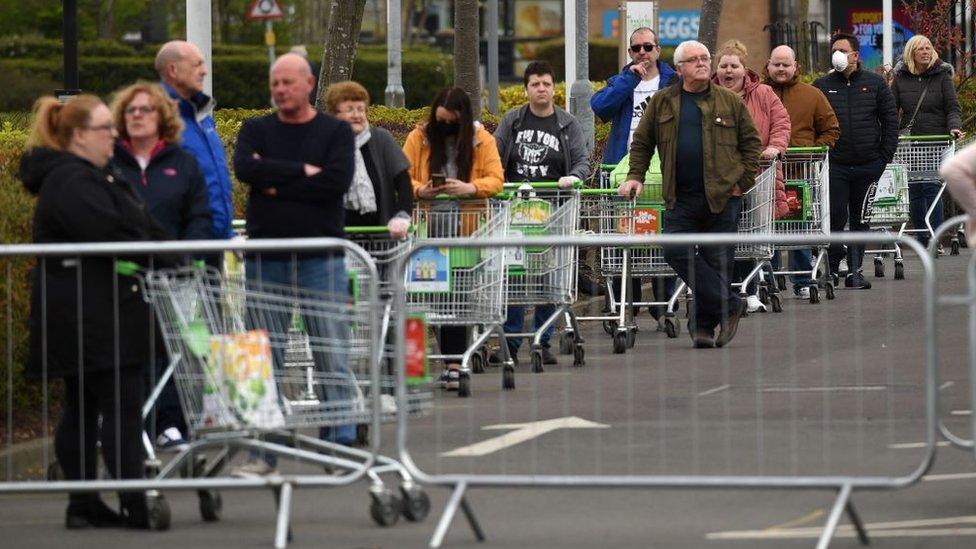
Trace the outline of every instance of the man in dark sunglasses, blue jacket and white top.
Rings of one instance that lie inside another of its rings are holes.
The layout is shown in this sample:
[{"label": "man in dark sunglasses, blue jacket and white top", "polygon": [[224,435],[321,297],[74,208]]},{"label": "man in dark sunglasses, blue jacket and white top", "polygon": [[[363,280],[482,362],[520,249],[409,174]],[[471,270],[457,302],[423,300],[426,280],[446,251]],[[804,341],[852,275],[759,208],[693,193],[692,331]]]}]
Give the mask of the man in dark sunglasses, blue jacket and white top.
[{"label": "man in dark sunglasses, blue jacket and white top", "polygon": [[637,128],[644,105],[677,75],[667,63],[658,59],[661,46],[657,35],[641,27],[630,35],[631,62],[620,74],[611,76],[602,90],[593,94],[590,107],[604,122],[612,120],[610,138],[603,152],[603,162],[616,164],[630,148],[630,136]]}]

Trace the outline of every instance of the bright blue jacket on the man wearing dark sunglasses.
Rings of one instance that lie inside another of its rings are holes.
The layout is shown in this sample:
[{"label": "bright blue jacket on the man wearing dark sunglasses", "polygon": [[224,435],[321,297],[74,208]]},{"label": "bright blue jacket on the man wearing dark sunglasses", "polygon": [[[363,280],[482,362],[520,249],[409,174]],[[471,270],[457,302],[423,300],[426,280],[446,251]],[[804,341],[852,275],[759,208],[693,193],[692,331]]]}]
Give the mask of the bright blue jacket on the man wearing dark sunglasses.
[{"label": "bright blue jacket on the man wearing dark sunglasses", "polygon": [[[640,84],[640,77],[630,70],[633,63],[627,63],[620,74],[611,76],[602,90],[593,94],[590,107],[604,122],[612,120],[607,148],[603,151],[603,162],[616,164],[627,154],[627,138],[630,135],[630,122],[634,116],[634,89]],[[678,79],[667,63],[658,59],[657,70],[661,73],[660,88],[664,89]]]}]

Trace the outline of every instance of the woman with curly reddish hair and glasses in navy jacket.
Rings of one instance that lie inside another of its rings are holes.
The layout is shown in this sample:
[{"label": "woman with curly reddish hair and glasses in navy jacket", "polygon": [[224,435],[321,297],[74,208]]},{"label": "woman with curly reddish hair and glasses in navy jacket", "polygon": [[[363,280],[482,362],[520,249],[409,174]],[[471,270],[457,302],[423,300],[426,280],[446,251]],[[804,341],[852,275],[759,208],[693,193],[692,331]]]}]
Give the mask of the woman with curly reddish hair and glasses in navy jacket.
[{"label": "woman with curly reddish hair and glasses in navy jacket", "polygon": [[[167,240],[210,238],[207,183],[196,158],[180,148],[183,121],[176,103],[160,86],[139,82],[119,90],[111,109],[119,134],[113,164],[146,202]],[[156,352],[155,367],[146,372],[150,387],[168,365],[165,346],[157,344]],[[186,444],[186,422],[172,378],[156,401],[153,423],[147,429],[160,449]]]}]

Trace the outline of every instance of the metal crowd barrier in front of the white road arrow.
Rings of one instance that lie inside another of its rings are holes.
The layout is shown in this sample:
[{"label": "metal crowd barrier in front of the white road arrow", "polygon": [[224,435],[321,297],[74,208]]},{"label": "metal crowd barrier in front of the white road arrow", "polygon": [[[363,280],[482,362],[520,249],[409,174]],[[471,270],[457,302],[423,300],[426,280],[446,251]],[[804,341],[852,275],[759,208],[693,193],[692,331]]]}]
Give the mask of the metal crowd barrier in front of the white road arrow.
[{"label": "metal crowd barrier in front of the white road arrow", "polygon": [[[814,246],[825,241],[822,235],[725,233],[594,235],[586,242],[692,247],[703,239],[726,246]],[[500,391],[497,405],[467,414],[435,405],[433,417],[421,420],[425,423],[401,415],[397,446],[404,465],[422,484],[452,490],[430,546],[443,543],[459,508],[475,536],[485,539],[465,497],[471,488],[583,487],[833,491],[823,530],[813,534],[819,536],[817,547],[828,546],[845,513],[866,544],[853,493],[912,486],[933,464],[938,436],[934,267],[918,242],[898,235],[844,233],[827,241],[897,243],[917,253],[924,276],[914,283],[923,290],[912,294],[916,301],[910,306],[919,309],[914,314],[921,329],[912,323],[903,327],[907,331],[895,332],[890,322],[877,322],[880,314],[912,314],[897,309],[904,303],[901,285],[879,285],[871,292],[845,294],[830,308],[751,315],[743,323],[754,324],[740,325],[740,335],[721,349],[691,349],[687,340],[642,340],[648,347],[624,360],[590,345],[588,360],[607,363],[571,369],[565,376],[533,376],[537,385],[521,395],[533,397],[528,403]],[[579,244],[572,237],[432,239],[418,243],[412,253],[425,247]],[[402,287],[397,287],[395,299],[405,302]],[[816,323],[803,324],[802,315]],[[838,318],[844,319],[845,329],[836,329]],[[770,346],[765,330],[782,344]],[[397,396],[404,399],[402,319],[396,333]],[[673,350],[675,346],[680,349]],[[483,438],[483,433],[490,436],[499,429],[514,432]],[[570,429],[588,431],[574,435]],[[562,435],[546,434],[556,430]],[[534,440],[539,436],[548,438]],[[912,436],[923,442],[899,449],[898,443]],[[458,443],[463,446],[454,447]],[[585,512],[592,520],[592,510]]]}]

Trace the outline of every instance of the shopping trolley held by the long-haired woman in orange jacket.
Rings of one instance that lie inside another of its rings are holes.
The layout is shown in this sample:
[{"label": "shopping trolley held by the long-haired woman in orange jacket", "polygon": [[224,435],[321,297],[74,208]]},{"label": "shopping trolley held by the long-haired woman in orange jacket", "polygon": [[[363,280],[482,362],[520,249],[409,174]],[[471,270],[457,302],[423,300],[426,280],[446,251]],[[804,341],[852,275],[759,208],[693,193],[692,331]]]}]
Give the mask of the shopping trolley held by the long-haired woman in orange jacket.
[{"label": "shopping trolley held by the long-haired woman in orange jacket", "polygon": [[485,342],[493,333],[504,337],[501,326],[505,322],[506,249],[435,249],[423,247],[423,241],[506,236],[509,201],[505,198],[506,195],[495,199],[438,197],[420,201],[414,207],[415,251],[404,273],[407,312],[423,314],[430,326],[473,328],[464,353],[428,355],[432,359],[460,359],[460,397],[471,395],[471,372],[485,369]]}]

